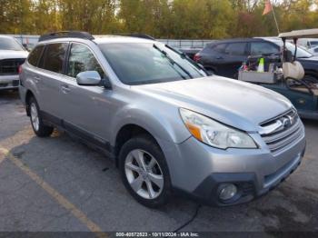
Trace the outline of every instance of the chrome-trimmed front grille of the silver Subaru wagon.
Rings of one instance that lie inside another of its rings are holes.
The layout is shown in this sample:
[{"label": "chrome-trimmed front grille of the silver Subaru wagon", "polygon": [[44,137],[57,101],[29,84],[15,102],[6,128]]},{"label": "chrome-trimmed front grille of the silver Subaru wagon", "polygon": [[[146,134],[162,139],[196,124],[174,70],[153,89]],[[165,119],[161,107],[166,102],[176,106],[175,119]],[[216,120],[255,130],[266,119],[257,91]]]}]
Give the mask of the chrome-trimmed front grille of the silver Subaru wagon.
[{"label": "chrome-trimmed front grille of the silver Subaru wagon", "polygon": [[303,135],[302,121],[294,110],[264,122],[261,128],[263,141],[273,154],[278,154]]}]

